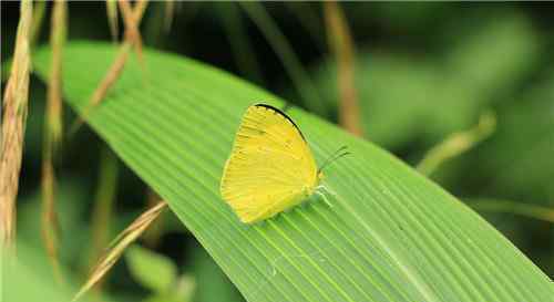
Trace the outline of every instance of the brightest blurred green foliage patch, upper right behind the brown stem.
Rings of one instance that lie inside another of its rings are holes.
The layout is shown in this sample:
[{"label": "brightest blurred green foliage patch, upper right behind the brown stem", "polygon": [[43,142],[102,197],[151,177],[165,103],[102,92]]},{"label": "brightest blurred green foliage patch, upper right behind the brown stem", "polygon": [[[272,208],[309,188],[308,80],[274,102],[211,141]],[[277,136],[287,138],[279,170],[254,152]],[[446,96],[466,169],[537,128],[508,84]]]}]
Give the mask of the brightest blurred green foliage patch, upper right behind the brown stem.
[{"label": "brightest blurred green foliage patch, upper right behind the brown stem", "polygon": [[[413,55],[361,51],[357,88],[367,137],[391,149],[417,140],[432,146],[512,93],[535,63],[540,44],[519,14],[480,21],[476,32],[452,35],[451,51]],[[328,107],[338,97],[334,62],[315,70]],[[328,111],[334,112],[334,111]]]}]

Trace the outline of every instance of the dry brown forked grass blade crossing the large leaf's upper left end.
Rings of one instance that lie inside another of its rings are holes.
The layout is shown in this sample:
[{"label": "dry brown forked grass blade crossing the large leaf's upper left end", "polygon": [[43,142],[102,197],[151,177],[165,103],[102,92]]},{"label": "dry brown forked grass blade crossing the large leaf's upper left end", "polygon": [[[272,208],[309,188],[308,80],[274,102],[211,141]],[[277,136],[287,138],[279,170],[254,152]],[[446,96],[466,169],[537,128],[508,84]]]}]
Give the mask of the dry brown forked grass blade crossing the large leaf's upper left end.
[{"label": "dry brown forked grass blade crossing the large leaf's upper left end", "polygon": [[79,127],[81,127],[83,122],[89,117],[91,111],[100,104],[100,102],[104,98],[107,91],[113,86],[117,77],[120,77],[120,74],[127,61],[131,46],[135,45],[138,60],[142,62],[142,40],[138,33],[138,24],[141,23],[144,11],[146,10],[147,1],[137,1],[134,9],[131,9],[131,6],[126,0],[120,0],[119,3],[123,18],[125,20],[125,40],[120,48],[115,61],[110,66],[106,75],[104,76],[104,79],[102,79],[102,82],[92,94],[91,100],[89,101],[89,105],[82,111],[81,116],[71,126],[70,135],[74,134],[79,129]]}]

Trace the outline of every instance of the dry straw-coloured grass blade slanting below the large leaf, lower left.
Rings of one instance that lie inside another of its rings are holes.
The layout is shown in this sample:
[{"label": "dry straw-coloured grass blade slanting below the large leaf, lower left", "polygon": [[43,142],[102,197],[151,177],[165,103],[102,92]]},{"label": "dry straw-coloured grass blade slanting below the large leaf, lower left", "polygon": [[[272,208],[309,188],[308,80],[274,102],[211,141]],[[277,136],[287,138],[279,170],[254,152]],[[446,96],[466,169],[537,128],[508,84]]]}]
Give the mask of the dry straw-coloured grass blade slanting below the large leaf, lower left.
[{"label": "dry straw-coloured grass blade slanting below the large leaf, lower left", "polygon": [[123,230],[114,239],[114,241],[110,243],[109,250],[105,251],[104,256],[100,259],[91,275],[72,301],[79,300],[84,293],[94,287],[94,284],[96,284],[113,267],[117,259],[120,259],[125,248],[134,242],[166,207],[167,204],[165,201],[157,204],[155,207],[142,214],[125,230]]}]

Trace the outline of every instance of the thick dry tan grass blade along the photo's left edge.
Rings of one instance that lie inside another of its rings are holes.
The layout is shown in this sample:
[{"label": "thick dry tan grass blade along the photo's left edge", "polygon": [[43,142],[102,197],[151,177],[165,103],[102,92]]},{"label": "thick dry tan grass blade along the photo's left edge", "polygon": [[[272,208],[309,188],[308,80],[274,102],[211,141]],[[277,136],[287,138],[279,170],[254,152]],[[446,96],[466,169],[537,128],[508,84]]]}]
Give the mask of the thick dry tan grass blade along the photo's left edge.
[{"label": "thick dry tan grass blade along the photo's left edge", "polygon": [[13,63],[3,95],[4,113],[0,145],[0,247],[8,249],[13,247],[16,237],[16,198],[29,101],[31,22],[31,1],[23,0],[21,1]]}]

